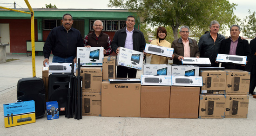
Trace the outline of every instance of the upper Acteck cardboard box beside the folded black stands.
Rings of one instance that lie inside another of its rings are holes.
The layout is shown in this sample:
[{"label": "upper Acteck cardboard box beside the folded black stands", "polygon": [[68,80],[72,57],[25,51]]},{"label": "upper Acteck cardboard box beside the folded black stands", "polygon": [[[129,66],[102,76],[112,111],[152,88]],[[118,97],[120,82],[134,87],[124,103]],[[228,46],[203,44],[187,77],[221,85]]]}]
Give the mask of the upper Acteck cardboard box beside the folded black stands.
[{"label": "upper Acteck cardboard box beside the folded black stands", "polygon": [[81,67],[83,92],[101,92],[102,67]]}]

